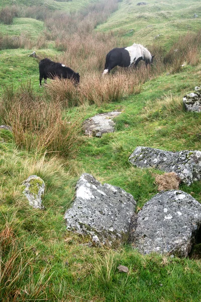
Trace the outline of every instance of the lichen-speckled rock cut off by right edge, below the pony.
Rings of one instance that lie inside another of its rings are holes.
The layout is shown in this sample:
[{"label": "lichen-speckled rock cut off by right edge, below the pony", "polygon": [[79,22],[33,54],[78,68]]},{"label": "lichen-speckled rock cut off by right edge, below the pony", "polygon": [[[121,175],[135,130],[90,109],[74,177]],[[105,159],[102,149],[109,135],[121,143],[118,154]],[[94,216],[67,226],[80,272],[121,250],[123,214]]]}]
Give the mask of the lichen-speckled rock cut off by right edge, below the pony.
[{"label": "lichen-speckled rock cut off by right edge, below the pony", "polygon": [[201,87],[195,87],[195,93],[189,93],[183,97],[183,104],[186,111],[201,111]]}]

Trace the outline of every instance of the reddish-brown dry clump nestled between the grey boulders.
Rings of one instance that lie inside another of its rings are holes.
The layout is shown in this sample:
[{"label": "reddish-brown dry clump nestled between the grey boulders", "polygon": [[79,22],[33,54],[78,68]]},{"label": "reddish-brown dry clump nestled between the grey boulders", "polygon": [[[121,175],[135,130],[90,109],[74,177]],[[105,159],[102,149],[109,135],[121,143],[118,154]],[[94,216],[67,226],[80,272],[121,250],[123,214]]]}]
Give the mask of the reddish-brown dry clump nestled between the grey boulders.
[{"label": "reddish-brown dry clump nestled between the grey boulders", "polygon": [[156,175],[155,177],[158,191],[178,190],[180,181],[180,178],[174,172]]}]

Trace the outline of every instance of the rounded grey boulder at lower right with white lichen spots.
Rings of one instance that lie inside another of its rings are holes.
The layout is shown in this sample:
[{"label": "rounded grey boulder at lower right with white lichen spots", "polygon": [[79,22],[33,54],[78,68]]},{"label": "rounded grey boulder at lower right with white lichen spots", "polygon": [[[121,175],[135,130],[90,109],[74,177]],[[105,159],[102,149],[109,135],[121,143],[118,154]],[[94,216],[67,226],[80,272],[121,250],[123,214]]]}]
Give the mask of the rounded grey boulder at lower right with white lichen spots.
[{"label": "rounded grey boulder at lower right with white lichen spots", "polygon": [[131,238],[142,254],[186,257],[200,225],[201,204],[185,192],[171,190],[155,195],[134,216]]}]

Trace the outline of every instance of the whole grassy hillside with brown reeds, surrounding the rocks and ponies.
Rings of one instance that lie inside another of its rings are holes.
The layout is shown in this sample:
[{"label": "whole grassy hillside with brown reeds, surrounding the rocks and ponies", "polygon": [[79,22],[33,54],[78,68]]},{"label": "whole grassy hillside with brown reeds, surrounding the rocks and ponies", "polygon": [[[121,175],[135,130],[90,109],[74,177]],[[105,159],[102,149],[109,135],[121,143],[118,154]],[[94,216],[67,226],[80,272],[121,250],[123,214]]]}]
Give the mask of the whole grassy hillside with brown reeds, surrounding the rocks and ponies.
[{"label": "whole grassy hillside with brown reeds, surrounding the rocks and ponies", "polygon": [[[45,3],[67,10],[87,4]],[[10,25],[0,24],[0,124],[13,128],[0,130],[3,302],[200,301],[200,244],[186,259],[142,256],[129,244],[117,250],[89,247],[87,237],[66,231],[63,219],[83,172],[131,193],[138,211],[158,192],[155,176],[162,174],[129,164],[138,145],[201,150],[200,114],[182,105],[201,80],[199,3],[136,4],[103,1],[76,15],[58,11],[43,21],[15,17]],[[199,18],[191,19],[194,13]],[[178,40],[180,34],[185,37]],[[154,51],[154,65],[114,68],[101,77],[107,52],[134,41]],[[39,88],[39,59],[28,57],[34,50],[78,71],[79,86],[48,80]],[[116,132],[99,139],[83,135],[82,121],[113,110],[122,111]],[[22,193],[30,175],[45,182],[44,211],[30,207]],[[200,181],[179,188],[201,202]],[[119,264],[129,273],[119,273]]]}]

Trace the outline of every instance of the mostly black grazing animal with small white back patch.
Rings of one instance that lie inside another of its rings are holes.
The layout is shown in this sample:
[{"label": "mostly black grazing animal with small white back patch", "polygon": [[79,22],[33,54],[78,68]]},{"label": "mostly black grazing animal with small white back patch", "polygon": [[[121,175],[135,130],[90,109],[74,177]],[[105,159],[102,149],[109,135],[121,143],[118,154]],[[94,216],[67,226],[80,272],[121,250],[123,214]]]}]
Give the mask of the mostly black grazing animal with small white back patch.
[{"label": "mostly black grazing animal with small white back patch", "polygon": [[39,72],[40,72],[40,86],[41,81],[44,78],[46,83],[48,79],[55,79],[56,77],[59,79],[70,79],[75,84],[79,83],[79,73],[73,71],[69,67],[66,67],[64,64],[56,63],[51,61],[50,59],[43,59],[39,63]]}]

